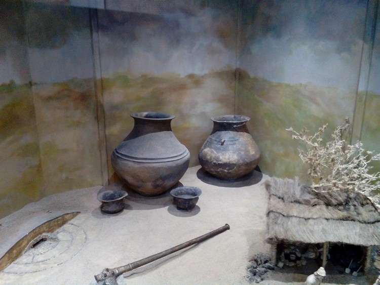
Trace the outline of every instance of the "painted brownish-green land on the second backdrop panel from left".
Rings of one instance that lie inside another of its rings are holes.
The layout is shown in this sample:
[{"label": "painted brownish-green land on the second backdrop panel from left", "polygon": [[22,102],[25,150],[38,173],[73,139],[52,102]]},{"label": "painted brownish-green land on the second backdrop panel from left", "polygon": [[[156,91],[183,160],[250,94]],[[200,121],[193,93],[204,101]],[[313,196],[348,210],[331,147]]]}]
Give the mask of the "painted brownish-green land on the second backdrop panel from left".
[{"label": "painted brownish-green land on the second backdrop panel from left", "polygon": [[101,184],[93,79],[32,87],[46,195]]}]

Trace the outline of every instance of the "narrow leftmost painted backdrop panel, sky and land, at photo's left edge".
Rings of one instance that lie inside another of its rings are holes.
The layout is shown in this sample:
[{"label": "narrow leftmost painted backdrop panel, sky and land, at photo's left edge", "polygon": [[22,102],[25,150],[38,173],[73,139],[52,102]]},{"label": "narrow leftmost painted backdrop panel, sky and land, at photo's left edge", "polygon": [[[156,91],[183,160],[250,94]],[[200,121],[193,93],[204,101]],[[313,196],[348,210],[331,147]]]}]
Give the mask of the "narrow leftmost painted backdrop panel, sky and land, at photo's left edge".
[{"label": "narrow leftmost painted backdrop panel, sky and land, at photo's left edge", "polygon": [[44,196],[22,12],[0,4],[0,217]]}]

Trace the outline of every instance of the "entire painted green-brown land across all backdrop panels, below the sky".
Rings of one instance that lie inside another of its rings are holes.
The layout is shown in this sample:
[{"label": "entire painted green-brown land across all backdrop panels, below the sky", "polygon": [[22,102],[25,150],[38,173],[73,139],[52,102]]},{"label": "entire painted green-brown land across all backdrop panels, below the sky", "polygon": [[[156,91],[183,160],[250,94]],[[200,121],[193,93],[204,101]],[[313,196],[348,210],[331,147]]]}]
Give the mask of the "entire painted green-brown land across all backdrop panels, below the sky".
[{"label": "entire painted green-brown land across all backdrop panels, below the sky", "polygon": [[[234,113],[235,76],[239,72],[237,113],[251,118],[248,127],[261,150],[263,173],[306,179],[297,147],[285,129],[323,124],[331,131],[352,119],[355,93],[312,84],[290,85],[252,77],[238,69],[208,74],[118,73],[98,81],[103,89],[106,145],[99,145],[93,79],[54,84],[14,82],[0,86],[0,201],[2,212],[45,195],[101,184],[100,148],[109,156],[132,130],[131,113],[160,111],[176,116],[172,129],[198,165],[198,151],[212,130],[210,117]],[[380,95],[368,93],[363,142],[380,151],[377,124]],[[101,108],[102,105],[99,105]],[[330,132],[326,132],[329,136]],[[16,204],[15,204],[16,201]],[[17,204],[17,201],[19,203]]]}]

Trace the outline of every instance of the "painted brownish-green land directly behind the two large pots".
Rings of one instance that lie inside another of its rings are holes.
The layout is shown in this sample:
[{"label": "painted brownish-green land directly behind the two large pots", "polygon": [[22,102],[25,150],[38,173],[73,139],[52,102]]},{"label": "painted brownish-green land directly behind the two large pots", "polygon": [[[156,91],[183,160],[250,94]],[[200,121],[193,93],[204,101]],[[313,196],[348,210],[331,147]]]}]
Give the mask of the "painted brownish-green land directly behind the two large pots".
[{"label": "painted brownish-green land directly behind the two large pots", "polygon": [[108,158],[132,130],[131,113],[158,111],[175,115],[174,135],[190,151],[190,166],[199,165],[198,152],[213,126],[210,118],[234,112],[232,69],[183,77],[117,74],[103,78],[102,84]]}]

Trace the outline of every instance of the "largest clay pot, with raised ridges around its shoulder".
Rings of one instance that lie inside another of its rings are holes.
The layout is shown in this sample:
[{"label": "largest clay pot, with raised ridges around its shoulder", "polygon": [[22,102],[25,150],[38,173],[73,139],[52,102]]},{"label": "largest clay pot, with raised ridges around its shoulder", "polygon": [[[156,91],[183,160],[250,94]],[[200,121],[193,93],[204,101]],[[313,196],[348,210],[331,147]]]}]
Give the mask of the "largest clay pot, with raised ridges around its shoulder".
[{"label": "largest clay pot, with raised ridges around its shoulder", "polygon": [[118,176],[144,196],[159,195],[183,176],[190,153],[174,136],[173,115],[158,112],[131,114],[131,133],[112,152],[111,164]]}]

